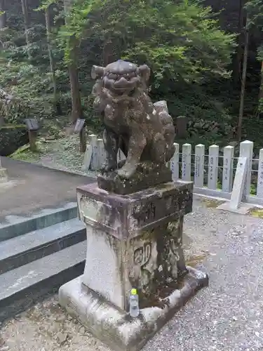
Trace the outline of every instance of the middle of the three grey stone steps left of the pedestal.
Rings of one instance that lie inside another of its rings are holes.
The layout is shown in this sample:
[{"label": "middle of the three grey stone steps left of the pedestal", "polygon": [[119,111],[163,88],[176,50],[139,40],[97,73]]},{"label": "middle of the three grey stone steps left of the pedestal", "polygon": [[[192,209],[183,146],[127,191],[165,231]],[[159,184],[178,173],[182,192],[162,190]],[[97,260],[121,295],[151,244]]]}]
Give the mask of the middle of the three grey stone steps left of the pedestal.
[{"label": "middle of the three grey stone steps left of the pedestal", "polygon": [[79,218],[66,220],[0,243],[0,274],[86,239]]}]

